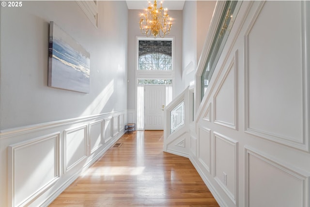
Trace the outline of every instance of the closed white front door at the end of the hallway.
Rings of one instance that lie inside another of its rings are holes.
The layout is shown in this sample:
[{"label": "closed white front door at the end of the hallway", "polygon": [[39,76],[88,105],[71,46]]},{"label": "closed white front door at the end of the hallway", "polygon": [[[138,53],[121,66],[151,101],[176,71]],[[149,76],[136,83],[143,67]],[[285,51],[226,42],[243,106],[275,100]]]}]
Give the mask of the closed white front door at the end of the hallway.
[{"label": "closed white front door at the end of the hallway", "polygon": [[165,86],[145,86],[145,130],[164,129]]}]

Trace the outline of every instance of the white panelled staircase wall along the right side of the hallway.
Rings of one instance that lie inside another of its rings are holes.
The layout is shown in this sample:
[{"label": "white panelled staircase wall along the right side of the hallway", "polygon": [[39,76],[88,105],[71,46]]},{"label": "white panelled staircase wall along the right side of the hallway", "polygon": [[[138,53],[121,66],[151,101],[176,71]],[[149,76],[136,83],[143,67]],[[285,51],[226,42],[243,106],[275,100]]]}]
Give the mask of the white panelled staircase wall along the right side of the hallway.
[{"label": "white panelled staircase wall along the right side of the hallway", "polygon": [[310,206],[309,14],[309,1],[243,1],[194,129],[165,140],[221,207]]}]

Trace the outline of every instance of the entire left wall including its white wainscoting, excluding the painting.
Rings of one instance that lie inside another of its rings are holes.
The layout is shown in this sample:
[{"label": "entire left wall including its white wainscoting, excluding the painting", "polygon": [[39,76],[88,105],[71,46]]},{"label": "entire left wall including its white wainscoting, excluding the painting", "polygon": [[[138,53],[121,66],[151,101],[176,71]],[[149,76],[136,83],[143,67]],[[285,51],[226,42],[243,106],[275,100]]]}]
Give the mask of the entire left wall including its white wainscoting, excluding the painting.
[{"label": "entire left wall including its white wainscoting, excluding the painting", "polygon": [[[98,1],[98,29],[76,1],[22,3],[0,8],[0,206],[50,202],[127,118],[126,3]],[[47,87],[49,21],[90,52],[90,93]]]}]

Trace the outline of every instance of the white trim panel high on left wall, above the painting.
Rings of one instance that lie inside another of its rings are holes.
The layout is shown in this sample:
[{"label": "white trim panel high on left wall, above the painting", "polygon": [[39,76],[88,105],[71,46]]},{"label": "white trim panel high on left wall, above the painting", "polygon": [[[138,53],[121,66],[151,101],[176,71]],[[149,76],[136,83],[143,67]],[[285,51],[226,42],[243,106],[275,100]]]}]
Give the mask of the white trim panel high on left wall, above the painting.
[{"label": "white trim panel high on left wall, above the painting", "polygon": [[77,0],[76,2],[93,23],[93,26],[98,28],[98,0]]}]

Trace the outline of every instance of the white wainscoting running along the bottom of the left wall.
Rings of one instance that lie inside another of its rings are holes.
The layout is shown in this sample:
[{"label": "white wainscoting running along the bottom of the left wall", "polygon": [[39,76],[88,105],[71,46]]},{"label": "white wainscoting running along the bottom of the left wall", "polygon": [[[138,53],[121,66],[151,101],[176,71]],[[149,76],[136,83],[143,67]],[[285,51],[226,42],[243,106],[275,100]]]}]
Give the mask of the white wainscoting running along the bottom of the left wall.
[{"label": "white wainscoting running along the bottom of the left wall", "polygon": [[47,207],[124,134],[112,117],[127,111],[0,131],[0,206]]}]

